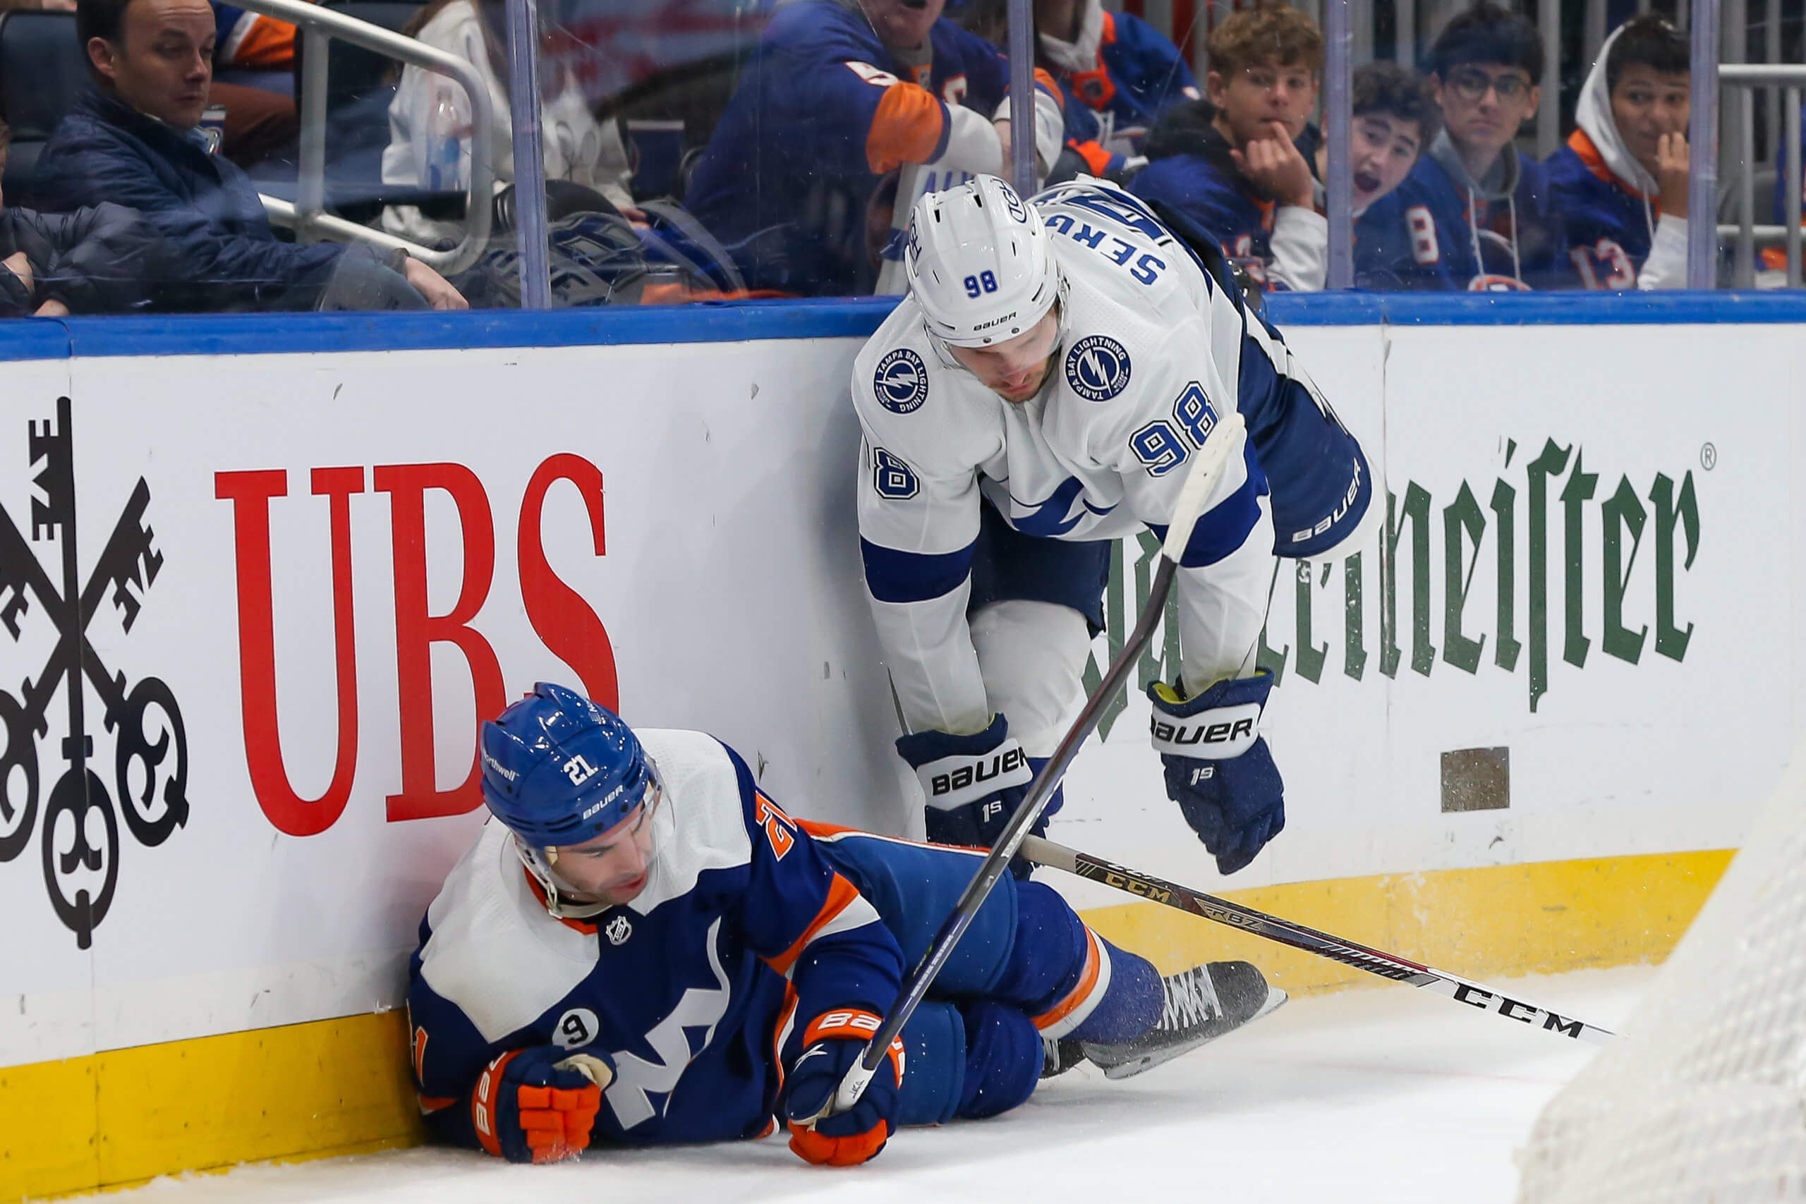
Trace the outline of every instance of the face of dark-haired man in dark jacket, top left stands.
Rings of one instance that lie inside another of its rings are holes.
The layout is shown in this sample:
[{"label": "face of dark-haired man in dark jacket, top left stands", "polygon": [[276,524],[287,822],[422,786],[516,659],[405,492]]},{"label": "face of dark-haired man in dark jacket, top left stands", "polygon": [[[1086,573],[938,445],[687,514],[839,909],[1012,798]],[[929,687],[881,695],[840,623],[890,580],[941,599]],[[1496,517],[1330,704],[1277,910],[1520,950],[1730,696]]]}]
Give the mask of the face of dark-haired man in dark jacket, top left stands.
[{"label": "face of dark-haired man in dark jacket, top left stands", "polygon": [[88,61],[132,108],[193,130],[213,83],[213,9],[208,0],[132,0],[117,43],[88,40]]}]

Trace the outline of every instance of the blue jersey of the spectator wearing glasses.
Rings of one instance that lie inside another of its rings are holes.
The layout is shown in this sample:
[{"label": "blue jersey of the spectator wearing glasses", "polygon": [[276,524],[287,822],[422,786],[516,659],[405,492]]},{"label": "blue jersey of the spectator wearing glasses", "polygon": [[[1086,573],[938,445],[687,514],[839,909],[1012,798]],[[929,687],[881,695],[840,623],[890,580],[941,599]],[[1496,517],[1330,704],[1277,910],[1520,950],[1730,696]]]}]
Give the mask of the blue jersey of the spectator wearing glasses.
[{"label": "blue jersey of the spectator wearing glasses", "polygon": [[[1407,227],[1427,236],[1414,264],[1418,283],[1447,276],[1456,289],[1573,289],[1568,235],[1542,164],[1517,155],[1517,188],[1508,200],[1470,197],[1434,155],[1425,153],[1398,186]],[[1472,222],[1468,215],[1472,213]],[[1425,262],[1427,260],[1427,262]]]}]

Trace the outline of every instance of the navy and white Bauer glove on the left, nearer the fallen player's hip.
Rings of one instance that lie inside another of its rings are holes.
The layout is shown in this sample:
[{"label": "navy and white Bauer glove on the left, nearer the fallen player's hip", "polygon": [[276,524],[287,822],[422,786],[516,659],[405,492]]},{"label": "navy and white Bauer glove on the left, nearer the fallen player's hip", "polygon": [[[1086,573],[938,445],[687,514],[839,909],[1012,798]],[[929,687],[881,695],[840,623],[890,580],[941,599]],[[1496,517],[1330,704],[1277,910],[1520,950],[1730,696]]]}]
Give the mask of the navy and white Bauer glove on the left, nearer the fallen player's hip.
[{"label": "navy and white Bauer glove on the left, nearer the fallen player's hip", "polygon": [[1002,715],[970,736],[912,731],[898,736],[898,753],[921,778],[928,839],[936,845],[990,848],[1035,780],[1035,767],[1010,736]]}]

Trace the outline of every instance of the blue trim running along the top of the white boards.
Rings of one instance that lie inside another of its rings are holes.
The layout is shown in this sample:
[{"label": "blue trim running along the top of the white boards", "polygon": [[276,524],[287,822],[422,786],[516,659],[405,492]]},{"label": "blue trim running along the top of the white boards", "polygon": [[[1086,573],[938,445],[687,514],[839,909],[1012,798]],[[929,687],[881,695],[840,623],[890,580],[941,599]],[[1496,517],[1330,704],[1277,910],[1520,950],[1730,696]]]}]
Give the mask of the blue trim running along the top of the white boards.
[{"label": "blue trim running along the top of the white boards", "polygon": [[[847,298],[551,312],[25,318],[0,327],[0,361],[863,339],[894,305]],[[1280,292],[1266,312],[1282,329],[1806,325],[1806,292]]]}]

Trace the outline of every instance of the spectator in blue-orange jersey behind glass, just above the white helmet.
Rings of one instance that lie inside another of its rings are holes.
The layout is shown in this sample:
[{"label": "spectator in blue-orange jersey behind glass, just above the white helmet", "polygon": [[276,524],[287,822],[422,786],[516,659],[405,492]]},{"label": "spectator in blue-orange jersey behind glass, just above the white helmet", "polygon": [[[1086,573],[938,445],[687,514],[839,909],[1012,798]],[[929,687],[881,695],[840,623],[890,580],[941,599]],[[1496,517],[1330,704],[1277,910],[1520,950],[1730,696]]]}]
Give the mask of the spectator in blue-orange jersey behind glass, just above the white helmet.
[{"label": "spectator in blue-orange jersey behind glass, just above the white helmet", "polygon": [[[966,5],[966,29],[1008,47],[1008,4]],[[1100,0],[1035,0],[1035,63],[1066,97],[1066,150],[1049,181],[1098,175],[1125,182],[1147,164],[1141,141],[1167,108],[1199,99],[1179,47],[1132,13]]]}]

